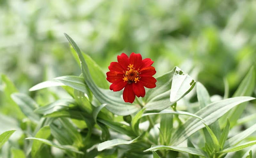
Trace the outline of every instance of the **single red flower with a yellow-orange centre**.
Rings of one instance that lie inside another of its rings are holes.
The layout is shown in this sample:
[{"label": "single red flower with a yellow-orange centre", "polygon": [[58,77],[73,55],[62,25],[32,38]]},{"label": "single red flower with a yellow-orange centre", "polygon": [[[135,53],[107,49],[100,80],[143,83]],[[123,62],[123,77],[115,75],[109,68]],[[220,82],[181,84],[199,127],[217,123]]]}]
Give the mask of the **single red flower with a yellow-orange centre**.
[{"label": "single red flower with a yellow-orange centre", "polygon": [[154,63],[149,58],[143,59],[140,54],[132,52],[129,57],[122,53],[117,56],[118,62],[110,63],[107,80],[112,83],[110,90],[121,91],[124,88],[125,102],[133,103],[135,95],[145,96],[145,88],[156,87],[156,79],[152,77],[156,70],[151,65]]}]

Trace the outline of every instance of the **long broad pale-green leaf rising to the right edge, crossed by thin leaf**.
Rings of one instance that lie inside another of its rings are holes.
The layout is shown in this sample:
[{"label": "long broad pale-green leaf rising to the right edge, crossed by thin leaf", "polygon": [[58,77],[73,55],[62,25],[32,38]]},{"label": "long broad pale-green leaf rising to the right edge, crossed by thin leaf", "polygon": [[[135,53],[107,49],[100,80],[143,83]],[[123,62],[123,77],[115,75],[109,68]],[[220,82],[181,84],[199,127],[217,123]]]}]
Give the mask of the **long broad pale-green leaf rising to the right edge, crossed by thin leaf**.
[{"label": "long broad pale-green leaf rising to the right edge, crossed by thin leaf", "polygon": [[[195,115],[204,119],[205,124],[210,125],[236,105],[253,99],[255,98],[234,97],[230,99],[216,101],[207,105],[203,109],[200,109],[197,113],[195,113]],[[186,140],[186,138],[188,138],[203,127],[204,124],[202,124],[201,120],[198,120],[194,117],[189,118],[182,126],[180,126],[180,128],[176,129],[173,132],[172,144],[180,144],[181,142]]]}]

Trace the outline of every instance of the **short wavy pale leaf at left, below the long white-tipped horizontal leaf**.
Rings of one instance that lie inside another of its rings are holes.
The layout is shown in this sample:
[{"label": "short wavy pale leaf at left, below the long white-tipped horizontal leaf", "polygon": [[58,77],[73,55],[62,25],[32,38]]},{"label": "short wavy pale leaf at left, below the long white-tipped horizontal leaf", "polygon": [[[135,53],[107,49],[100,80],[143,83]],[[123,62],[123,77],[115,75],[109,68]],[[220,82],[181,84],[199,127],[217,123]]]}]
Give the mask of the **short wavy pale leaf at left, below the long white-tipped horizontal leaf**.
[{"label": "short wavy pale leaf at left, below the long white-tipped horizontal leaf", "polygon": [[60,100],[50,103],[46,106],[39,107],[34,112],[38,113],[38,114],[47,115],[50,113],[54,113],[56,111],[66,110],[66,109],[68,109],[70,104],[75,105],[76,104],[75,100],[74,99],[60,99]]}]

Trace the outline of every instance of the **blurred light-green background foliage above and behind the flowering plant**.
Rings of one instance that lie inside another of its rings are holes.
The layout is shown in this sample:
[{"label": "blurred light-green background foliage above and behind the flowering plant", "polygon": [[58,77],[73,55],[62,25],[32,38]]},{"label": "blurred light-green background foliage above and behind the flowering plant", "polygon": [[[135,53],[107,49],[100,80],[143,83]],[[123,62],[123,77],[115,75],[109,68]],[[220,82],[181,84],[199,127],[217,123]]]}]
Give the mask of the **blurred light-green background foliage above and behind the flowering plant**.
[{"label": "blurred light-green background foliage above and behind the flowering plant", "polygon": [[254,0],[0,0],[0,73],[24,93],[79,75],[65,32],[104,72],[120,53],[141,53],[156,76],[178,65],[211,95],[227,78],[232,94],[256,65],[255,15]]}]

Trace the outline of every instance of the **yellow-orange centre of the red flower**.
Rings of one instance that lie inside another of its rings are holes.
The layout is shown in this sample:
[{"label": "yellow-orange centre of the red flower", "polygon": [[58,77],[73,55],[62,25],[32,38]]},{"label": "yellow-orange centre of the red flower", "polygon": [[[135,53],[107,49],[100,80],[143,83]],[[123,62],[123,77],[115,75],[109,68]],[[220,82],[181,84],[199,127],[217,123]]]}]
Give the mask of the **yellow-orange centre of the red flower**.
[{"label": "yellow-orange centre of the red flower", "polygon": [[137,70],[134,69],[133,65],[130,64],[127,68],[127,71],[124,74],[124,82],[127,81],[128,83],[135,82],[137,83],[140,79],[139,73]]}]

